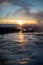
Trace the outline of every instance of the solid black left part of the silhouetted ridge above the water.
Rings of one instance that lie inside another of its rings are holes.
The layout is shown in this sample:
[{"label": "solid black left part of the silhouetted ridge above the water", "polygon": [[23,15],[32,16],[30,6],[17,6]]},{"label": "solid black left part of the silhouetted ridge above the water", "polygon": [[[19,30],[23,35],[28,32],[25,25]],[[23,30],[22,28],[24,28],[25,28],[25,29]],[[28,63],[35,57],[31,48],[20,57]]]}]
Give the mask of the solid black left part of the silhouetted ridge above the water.
[{"label": "solid black left part of the silhouetted ridge above the water", "polygon": [[11,32],[20,32],[20,29],[15,27],[0,27],[0,33],[11,33]]}]

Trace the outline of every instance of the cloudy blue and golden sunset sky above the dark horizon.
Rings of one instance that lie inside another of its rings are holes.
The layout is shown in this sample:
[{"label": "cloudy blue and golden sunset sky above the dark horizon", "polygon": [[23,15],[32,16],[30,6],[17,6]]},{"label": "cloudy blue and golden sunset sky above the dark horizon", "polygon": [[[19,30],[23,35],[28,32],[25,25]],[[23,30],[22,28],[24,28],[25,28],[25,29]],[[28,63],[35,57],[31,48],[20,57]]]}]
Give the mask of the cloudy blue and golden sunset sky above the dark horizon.
[{"label": "cloudy blue and golden sunset sky above the dark horizon", "polygon": [[0,0],[0,24],[43,23],[43,0]]}]

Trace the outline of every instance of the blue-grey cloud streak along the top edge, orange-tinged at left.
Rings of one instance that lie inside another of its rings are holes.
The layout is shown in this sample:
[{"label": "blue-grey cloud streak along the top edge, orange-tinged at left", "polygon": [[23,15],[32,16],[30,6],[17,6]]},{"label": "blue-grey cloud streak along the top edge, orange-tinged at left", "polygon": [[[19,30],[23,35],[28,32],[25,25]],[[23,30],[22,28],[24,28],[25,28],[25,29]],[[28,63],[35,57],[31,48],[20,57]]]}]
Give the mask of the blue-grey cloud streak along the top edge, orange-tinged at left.
[{"label": "blue-grey cloud streak along the top edge, orange-tinged at left", "polygon": [[1,4],[5,3],[11,3],[13,5],[18,5],[21,7],[30,7],[31,3],[28,2],[28,0],[0,0]]}]

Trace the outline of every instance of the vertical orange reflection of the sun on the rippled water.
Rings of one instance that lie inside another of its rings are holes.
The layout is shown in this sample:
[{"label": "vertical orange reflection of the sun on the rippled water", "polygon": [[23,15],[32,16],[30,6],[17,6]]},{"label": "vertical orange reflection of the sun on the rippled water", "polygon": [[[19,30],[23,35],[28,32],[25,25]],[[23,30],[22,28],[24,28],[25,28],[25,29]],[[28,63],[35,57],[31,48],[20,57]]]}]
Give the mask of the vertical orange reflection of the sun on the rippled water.
[{"label": "vertical orange reflection of the sun on the rippled water", "polygon": [[24,34],[22,32],[18,33],[17,40],[18,40],[18,46],[20,47],[20,49],[17,50],[17,52],[19,54],[24,54],[23,52],[25,52],[27,50],[27,47],[26,47],[26,42],[25,42]]}]

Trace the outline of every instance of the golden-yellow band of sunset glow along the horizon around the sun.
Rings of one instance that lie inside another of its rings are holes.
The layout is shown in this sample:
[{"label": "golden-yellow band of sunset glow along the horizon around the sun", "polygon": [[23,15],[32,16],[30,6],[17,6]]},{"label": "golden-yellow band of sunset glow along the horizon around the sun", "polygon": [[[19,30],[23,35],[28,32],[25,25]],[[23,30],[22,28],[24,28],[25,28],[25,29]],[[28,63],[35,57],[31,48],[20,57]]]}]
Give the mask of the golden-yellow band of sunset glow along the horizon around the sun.
[{"label": "golden-yellow band of sunset glow along the horizon around the sun", "polygon": [[23,24],[38,24],[36,19],[29,20],[14,20],[14,19],[0,19],[0,24],[18,24],[22,26]]}]

